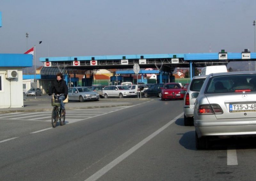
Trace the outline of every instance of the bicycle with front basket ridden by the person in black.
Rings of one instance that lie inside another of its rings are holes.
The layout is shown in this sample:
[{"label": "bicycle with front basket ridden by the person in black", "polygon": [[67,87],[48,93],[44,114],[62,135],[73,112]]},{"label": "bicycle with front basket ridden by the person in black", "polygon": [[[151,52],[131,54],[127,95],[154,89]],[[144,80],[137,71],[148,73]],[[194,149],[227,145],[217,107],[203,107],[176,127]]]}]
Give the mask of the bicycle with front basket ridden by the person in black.
[{"label": "bicycle with front basket ridden by the person in black", "polygon": [[[63,116],[61,116],[61,106],[60,106],[60,102],[58,100],[58,98],[64,94],[52,94],[52,127],[56,127],[57,121],[60,121],[60,126],[63,126],[65,124],[65,117],[66,117],[66,112],[64,113]],[[64,103],[65,106],[65,103]]]}]

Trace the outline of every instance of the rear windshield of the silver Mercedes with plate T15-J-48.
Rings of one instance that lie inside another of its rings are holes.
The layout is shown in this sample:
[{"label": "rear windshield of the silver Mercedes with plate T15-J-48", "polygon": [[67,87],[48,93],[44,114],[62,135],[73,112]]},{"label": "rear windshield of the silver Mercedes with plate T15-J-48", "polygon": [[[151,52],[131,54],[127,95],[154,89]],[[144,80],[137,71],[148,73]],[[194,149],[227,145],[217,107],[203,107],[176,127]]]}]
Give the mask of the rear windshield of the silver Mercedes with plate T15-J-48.
[{"label": "rear windshield of the silver Mercedes with plate T15-J-48", "polygon": [[256,74],[233,74],[213,76],[207,83],[205,93],[256,91]]}]

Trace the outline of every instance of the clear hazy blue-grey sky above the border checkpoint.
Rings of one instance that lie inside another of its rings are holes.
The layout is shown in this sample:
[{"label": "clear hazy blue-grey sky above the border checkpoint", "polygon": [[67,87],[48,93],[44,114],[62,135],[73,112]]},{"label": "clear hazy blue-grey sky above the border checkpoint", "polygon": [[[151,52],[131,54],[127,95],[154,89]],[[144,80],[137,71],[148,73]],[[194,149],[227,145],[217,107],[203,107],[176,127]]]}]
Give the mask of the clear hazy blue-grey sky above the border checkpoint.
[{"label": "clear hazy blue-grey sky above the border checkpoint", "polygon": [[255,0],[1,0],[0,53],[36,45],[43,65],[40,57],[254,52],[255,7]]}]

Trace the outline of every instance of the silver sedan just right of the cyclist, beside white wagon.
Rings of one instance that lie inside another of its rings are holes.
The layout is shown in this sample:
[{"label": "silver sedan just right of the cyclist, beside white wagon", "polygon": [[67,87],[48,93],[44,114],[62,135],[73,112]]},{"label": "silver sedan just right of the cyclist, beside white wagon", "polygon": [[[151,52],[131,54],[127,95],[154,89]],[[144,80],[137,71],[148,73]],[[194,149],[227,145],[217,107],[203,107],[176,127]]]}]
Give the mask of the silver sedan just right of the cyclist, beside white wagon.
[{"label": "silver sedan just right of the cyclist, beside white wagon", "polygon": [[68,100],[95,100],[98,101],[100,98],[97,92],[93,92],[87,87],[71,87],[68,89]]}]

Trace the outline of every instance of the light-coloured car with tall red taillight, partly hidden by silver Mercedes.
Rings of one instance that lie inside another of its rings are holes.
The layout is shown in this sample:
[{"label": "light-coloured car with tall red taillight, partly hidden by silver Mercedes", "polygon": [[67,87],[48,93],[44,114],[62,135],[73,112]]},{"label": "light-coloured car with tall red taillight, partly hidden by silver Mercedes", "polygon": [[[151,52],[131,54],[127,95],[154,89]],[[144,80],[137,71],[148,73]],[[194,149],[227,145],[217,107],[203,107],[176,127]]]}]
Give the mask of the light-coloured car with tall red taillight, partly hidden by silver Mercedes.
[{"label": "light-coloured car with tall red taillight, partly hidden by silver Mercedes", "polygon": [[188,85],[188,90],[184,97],[184,125],[193,126],[194,125],[194,107],[196,97],[195,95],[201,90],[204,80],[207,76],[194,76]]}]

